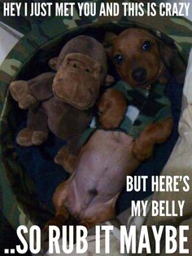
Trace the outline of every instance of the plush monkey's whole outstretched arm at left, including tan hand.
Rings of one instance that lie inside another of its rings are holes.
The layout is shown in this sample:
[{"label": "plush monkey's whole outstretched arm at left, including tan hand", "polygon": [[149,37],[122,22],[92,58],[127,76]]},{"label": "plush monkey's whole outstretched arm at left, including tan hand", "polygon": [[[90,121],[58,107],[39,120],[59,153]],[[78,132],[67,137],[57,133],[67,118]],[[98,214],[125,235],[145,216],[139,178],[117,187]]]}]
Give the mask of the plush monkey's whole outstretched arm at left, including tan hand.
[{"label": "plush monkey's whole outstretched arm at left, including tan hand", "polygon": [[20,108],[33,108],[53,95],[54,77],[55,73],[42,73],[28,81],[11,82],[9,87],[11,96],[18,102]]}]

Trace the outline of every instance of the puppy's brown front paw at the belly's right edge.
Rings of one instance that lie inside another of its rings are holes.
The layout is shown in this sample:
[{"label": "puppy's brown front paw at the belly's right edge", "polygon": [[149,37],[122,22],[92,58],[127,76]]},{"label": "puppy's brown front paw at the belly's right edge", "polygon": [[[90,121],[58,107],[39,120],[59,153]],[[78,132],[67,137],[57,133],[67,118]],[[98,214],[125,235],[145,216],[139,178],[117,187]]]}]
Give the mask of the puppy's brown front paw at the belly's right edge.
[{"label": "puppy's brown front paw at the belly's right edge", "polygon": [[136,139],[133,141],[132,155],[138,161],[145,161],[152,156],[153,149],[153,143],[147,143],[146,140]]}]

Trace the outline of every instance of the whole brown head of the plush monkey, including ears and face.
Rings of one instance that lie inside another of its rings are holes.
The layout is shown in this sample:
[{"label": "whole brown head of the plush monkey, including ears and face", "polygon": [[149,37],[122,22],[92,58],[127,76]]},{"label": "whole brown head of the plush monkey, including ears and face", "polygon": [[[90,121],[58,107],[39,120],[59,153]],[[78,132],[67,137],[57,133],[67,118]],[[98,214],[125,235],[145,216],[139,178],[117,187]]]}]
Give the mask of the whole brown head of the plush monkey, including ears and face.
[{"label": "whole brown head of the plush monkey, including ears and face", "polygon": [[50,60],[57,71],[53,82],[55,96],[75,108],[91,108],[100,86],[107,83],[107,55],[103,45],[88,36],[71,39],[59,57]]}]

